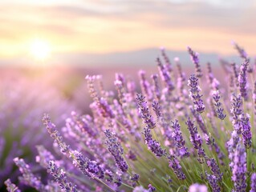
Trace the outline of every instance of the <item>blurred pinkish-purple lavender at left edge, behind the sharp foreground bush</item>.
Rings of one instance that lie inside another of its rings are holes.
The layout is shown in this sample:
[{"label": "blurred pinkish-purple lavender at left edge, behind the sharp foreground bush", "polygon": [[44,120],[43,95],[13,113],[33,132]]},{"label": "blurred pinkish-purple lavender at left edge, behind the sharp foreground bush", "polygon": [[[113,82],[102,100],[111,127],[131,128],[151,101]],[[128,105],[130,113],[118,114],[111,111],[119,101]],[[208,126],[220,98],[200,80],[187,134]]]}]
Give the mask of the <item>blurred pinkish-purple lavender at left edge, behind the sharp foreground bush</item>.
[{"label": "blurred pinkish-purple lavender at left edge, behind the sharp foreground bush", "polygon": [[[4,182],[7,178],[18,183],[20,173],[13,161],[17,156],[33,164],[33,171],[42,175],[42,167],[35,163],[38,154],[35,146],[43,144],[52,149],[52,144],[45,139],[47,130],[41,126],[39,117],[48,111],[56,124],[63,126],[63,120],[67,118],[63,112],[70,113],[72,106],[58,90],[42,82],[30,82],[23,76],[16,79],[18,82],[11,80],[2,78],[0,84],[1,191],[6,188]],[[40,94],[42,92],[44,94]],[[25,190],[23,186],[21,189]]]}]

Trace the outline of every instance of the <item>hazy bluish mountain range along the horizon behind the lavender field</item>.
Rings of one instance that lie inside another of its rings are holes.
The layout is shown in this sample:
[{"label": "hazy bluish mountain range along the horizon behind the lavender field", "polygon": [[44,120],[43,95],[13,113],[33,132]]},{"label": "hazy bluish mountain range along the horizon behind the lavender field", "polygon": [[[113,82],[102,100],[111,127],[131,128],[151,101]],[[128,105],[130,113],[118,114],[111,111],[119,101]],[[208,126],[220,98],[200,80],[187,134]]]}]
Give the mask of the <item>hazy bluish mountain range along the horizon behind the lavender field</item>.
[{"label": "hazy bluish mountain range along the horizon behind the lavender field", "polygon": [[[166,53],[168,54],[171,62],[173,62],[173,59],[177,57],[180,58],[182,65],[192,65],[187,51],[166,50]],[[160,56],[161,50],[151,48],[109,54],[55,54],[52,55],[49,61],[44,63],[58,66],[154,66],[156,65],[156,58]],[[200,53],[199,57],[202,64],[211,62],[213,65],[217,65],[219,58],[224,58],[229,62],[242,62],[238,55],[222,57],[215,53]],[[35,63],[35,61],[22,57],[12,59],[0,58],[1,66],[26,66],[27,64],[33,65],[33,63]]]}]

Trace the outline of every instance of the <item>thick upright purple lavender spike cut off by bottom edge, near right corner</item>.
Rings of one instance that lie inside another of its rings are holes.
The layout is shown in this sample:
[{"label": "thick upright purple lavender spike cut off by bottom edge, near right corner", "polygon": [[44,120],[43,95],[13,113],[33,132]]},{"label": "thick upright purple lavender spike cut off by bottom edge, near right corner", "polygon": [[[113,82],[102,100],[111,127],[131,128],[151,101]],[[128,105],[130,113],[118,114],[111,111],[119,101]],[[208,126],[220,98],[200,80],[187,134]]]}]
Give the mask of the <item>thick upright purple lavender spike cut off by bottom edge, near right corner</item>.
[{"label": "thick upright purple lavender spike cut off by bottom edge, near right corner", "polygon": [[242,145],[237,146],[233,161],[232,181],[234,182],[234,191],[246,192],[246,150]]}]

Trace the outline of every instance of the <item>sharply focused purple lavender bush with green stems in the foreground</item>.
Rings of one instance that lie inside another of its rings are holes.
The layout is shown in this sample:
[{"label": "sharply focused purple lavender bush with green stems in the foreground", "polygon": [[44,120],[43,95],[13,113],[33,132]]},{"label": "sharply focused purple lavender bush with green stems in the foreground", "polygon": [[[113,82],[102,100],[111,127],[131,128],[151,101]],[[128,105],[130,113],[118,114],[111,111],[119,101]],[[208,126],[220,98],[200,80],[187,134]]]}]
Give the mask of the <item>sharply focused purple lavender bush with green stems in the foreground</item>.
[{"label": "sharply focused purple lavender bush with green stems in the foreground", "polygon": [[[51,178],[40,182],[33,167],[14,158],[20,180],[40,191],[254,191],[255,71],[235,48],[240,68],[221,61],[228,85],[210,64],[203,74],[190,47],[196,74],[185,77],[177,58],[176,71],[161,50],[159,74],[139,73],[141,91],[122,74],[117,94],[99,86],[100,76],[87,76],[91,114],[73,111],[64,127],[43,116],[55,154],[37,146],[36,160]],[[18,191],[10,180],[6,185]]]}]

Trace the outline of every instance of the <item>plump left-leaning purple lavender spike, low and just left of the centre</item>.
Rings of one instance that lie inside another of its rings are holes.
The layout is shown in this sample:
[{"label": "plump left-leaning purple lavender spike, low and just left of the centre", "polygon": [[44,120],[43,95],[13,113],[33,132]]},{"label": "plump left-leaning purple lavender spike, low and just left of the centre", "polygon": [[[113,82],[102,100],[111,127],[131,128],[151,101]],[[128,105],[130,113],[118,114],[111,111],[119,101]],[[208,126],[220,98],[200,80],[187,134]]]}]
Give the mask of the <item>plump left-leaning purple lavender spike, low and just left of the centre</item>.
[{"label": "plump left-leaning purple lavender spike, low and just left of the centre", "polygon": [[108,145],[108,151],[115,158],[116,165],[120,170],[126,172],[128,170],[128,165],[122,156],[124,154],[124,149],[120,145],[120,142],[117,141],[116,134],[112,133],[110,130],[105,130],[104,134],[107,138],[105,143]]}]

